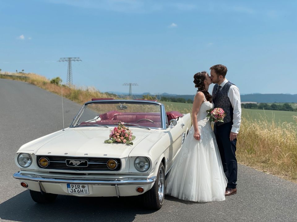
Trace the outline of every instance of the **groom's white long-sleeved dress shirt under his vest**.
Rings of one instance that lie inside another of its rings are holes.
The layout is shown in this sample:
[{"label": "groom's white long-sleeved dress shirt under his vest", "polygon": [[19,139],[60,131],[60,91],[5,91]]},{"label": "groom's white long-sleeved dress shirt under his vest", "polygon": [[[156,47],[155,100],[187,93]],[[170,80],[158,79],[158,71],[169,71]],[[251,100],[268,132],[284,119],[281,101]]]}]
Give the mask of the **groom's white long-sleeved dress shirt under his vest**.
[{"label": "groom's white long-sleeved dress shirt under his vest", "polygon": [[[225,79],[221,84],[219,84],[219,86],[223,87],[227,82],[228,80]],[[239,89],[237,88],[236,85],[230,86],[228,90],[228,97],[233,108],[233,125],[232,125],[231,132],[238,133],[240,128],[240,122],[241,122],[241,103],[240,103]]]}]

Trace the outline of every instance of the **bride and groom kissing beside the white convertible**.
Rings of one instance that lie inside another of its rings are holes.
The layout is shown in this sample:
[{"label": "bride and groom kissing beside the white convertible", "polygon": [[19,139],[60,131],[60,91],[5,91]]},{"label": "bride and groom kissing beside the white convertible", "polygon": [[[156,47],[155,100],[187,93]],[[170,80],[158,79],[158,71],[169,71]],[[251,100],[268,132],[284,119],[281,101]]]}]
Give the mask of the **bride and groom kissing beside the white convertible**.
[{"label": "bride and groom kissing beside the white convertible", "polygon": [[[237,134],[241,121],[239,89],[226,79],[221,64],[194,75],[198,88],[192,108],[193,125],[175,157],[167,178],[166,194],[183,200],[209,202],[225,200],[237,192]],[[209,85],[214,83],[212,95]],[[221,108],[223,121],[213,129],[207,111]]]}]

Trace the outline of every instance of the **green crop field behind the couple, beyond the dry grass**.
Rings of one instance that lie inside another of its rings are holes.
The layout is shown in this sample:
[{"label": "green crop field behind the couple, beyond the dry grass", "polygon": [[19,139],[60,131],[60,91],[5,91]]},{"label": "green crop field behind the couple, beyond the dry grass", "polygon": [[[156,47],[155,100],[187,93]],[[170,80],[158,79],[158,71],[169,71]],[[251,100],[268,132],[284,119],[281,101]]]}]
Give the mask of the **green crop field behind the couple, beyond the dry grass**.
[{"label": "green crop field behind the couple, beyond the dry grass", "polygon": [[[176,102],[162,102],[166,107],[166,111],[179,111],[181,113],[191,113],[192,112],[192,104],[189,103],[176,103]],[[291,103],[293,107],[293,103]],[[297,106],[297,104],[295,104]],[[289,112],[289,111],[278,111],[278,110],[261,110],[261,109],[242,109],[242,117],[244,118],[253,118],[256,120],[260,120],[265,118],[267,121],[273,121],[275,123],[283,123],[283,122],[296,122],[293,116],[297,116],[297,112]]]}]

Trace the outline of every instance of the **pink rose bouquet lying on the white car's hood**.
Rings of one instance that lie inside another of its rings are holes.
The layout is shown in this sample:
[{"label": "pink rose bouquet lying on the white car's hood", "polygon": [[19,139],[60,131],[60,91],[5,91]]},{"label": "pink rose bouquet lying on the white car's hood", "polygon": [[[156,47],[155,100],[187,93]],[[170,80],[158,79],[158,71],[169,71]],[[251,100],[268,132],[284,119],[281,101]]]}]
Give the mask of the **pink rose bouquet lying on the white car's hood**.
[{"label": "pink rose bouquet lying on the white car's hood", "polygon": [[117,127],[114,127],[114,129],[110,130],[109,139],[105,140],[105,143],[125,143],[133,145],[132,140],[135,139],[135,136],[133,136],[132,131],[123,125],[123,123],[119,123]]}]

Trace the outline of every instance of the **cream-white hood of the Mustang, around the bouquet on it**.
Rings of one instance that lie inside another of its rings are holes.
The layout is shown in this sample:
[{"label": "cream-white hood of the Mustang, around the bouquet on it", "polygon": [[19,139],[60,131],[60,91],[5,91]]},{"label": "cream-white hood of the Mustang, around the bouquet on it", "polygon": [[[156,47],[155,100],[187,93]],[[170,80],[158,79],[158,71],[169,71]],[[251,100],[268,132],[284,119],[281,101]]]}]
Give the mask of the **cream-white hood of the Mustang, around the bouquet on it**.
[{"label": "cream-white hood of the Mustang, around the bouquet on it", "polygon": [[68,128],[65,131],[49,134],[28,146],[22,146],[20,150],[33,150],[36,155],[123,158],[127,157],[139,142],[155,131],[130,129],[136,136],[133,145],[104,143],[104,140],[109,138],[110,129],[86,127]]}]

